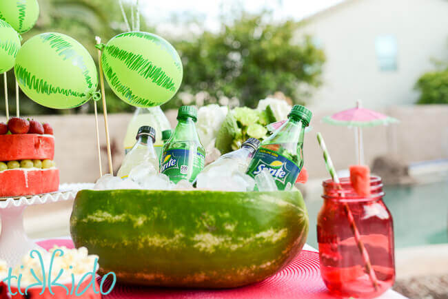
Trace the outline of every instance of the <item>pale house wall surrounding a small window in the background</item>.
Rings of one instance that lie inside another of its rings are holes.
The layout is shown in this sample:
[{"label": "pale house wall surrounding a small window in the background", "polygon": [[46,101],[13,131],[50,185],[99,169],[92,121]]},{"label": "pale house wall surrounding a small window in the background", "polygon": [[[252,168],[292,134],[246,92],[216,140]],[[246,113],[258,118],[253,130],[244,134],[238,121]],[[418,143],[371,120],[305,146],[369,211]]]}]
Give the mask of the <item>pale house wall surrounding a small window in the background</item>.
[{"label": "pale house wall surrounding a small window in the background", "polygon": [[[374,109],[415,103],[430,59],[448,59],[447,16],[446,0],[348,0],[309,19],[300,33],[316,37],[327,56],[312,109],[343,110],[357,99]],[[394,72],[378,66],[375,39],[385,34],[397,40]]]}]

